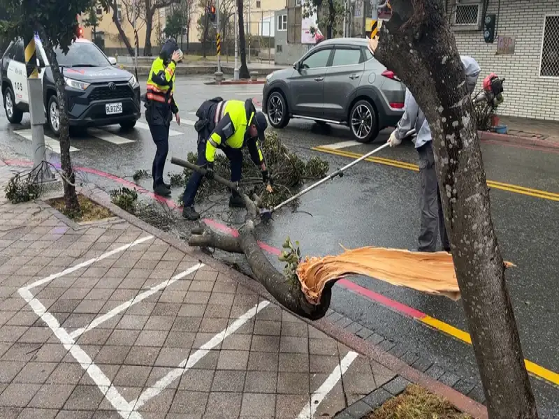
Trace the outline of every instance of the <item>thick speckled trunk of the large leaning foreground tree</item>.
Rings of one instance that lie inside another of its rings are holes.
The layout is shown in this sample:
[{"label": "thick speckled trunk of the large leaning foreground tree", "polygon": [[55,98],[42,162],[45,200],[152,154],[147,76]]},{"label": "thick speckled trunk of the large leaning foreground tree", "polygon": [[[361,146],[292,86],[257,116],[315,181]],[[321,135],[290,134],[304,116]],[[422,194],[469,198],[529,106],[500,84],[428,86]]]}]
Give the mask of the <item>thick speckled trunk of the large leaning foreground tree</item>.
[{"label": "thick speckled trunk of the large leaning foreground tree", "polygon": [[375,57],[395,71],[429,121],[445,224],[492,419],[537,418],[465,73],[442,0],[391,0]]}]

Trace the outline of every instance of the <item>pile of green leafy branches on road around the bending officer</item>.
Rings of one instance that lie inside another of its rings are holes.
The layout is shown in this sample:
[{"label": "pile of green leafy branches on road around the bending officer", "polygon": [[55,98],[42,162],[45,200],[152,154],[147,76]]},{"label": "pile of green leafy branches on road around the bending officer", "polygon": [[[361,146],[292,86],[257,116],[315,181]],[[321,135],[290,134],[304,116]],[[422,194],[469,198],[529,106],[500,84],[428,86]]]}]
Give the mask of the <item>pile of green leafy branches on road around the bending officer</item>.
[{"label": "pile of green leafy branches on road around the bending officer", "polygon": [[[262,153],[266,159],[268,172],[273,182],[274,193],[265,193],[265,185],[262,182],[262,175],[259,166],[256,166],[250,158],[247,148],[243,148],[242,159],[242,179],[240,181],[240,189],[242,193],[248,196],[256,194],[261,197],[261,205],[264,207],[273,207],[284,200],[290,198],[296,189],[303,185],[305,181],[316,180],[325,177],[328,172],[328,162],[318,157],[311,157],[307,161],[303,161],[296,154],[289,151],[278,138],[275,132],[266,133],[266,140],[261,144]],[[189,153],[187,161],[196,164],[197,154]],[[216,175],[225,179],[231,177],[231,169],[229,161],[222,153],[215,156],[214,171]],[[173,184],[180,182],[184,186],[188,182],[191,170],[185,168],[182,179],[179,181],[177,175],[173,175]],[[203,181],[196,202],[201,202],[213,193],[227,193],[226,186],[217,182]]]}]

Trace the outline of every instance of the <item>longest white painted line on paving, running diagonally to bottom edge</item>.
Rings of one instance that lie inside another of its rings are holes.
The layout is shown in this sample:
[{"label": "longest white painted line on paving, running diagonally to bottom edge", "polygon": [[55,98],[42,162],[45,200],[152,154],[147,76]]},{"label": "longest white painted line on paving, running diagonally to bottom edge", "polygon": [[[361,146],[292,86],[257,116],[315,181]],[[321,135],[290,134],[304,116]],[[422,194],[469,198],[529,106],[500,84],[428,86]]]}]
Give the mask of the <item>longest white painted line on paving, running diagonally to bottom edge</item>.
[{"label": "longest white painted line on paving, running diagonally to bottom edge", "polygon": [[85,372],[92,378],[101,393],[103,393],[110,404],[117,410],[119,415],[124,419],[142,419],[140,413],[133,411],[133,404],[126,402],[126,399],[124,399],[115,386],[112,385],[108,376],[101,371],[101,368],[94,364],[92,358],[90,358],[79,345],[75,344],[74,339],[68,335],[68,332],[60,327],[55,316],[52,316],[52,314],[45,309],[45,306],[31,294],[29,289],[20,288],[19,293],[24,300],[27,301],[27,304],[29,304],[35,314],[55,333],[55,336],[59,339],[66,351],[70,351],[75,360],[85,369]]}]

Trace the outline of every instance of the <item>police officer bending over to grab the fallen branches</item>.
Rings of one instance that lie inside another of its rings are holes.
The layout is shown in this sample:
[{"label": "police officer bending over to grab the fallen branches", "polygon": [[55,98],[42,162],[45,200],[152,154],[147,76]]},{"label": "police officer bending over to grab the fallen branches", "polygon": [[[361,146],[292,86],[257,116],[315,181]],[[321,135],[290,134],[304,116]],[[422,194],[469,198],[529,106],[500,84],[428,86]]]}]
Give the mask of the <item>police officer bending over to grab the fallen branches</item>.
[{"label": "police officer bending over to grab the fallen branches", "polygon": [[[266,116],[256,112],[251,99],[246,101],[224,101],[212,98],[202,103],[196,111],[198,121],[194,125],[198,131],[198,166],[208,170],[206,177],[214,175],[214,159],[217,149],[221,149],[231,163],[231,182],[238,184],[242,172],[242,147],[249,149],[252,161],[261,168],[262,180],[268,192],[272,192],[270,177],[262,154],[259,140],[263,142],[264,131],[268,127]],[[202,175],[193,172],[184,189],[182,216],[191,221],[200,218],[194,210],[194,198],[202,181]],[[230,207],[243,207],[242,197],[231,193]]]}]

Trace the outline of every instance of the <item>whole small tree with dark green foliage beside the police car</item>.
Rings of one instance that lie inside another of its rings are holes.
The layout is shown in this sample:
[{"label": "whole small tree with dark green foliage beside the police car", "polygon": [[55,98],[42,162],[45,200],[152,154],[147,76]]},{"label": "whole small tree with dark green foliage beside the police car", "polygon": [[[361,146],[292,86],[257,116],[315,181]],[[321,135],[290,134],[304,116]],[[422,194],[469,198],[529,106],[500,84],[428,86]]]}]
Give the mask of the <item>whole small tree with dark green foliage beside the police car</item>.
[{"label": "whole small tree with dark green foliage beside the police car", "polygon": [[0,0],[0,7],[6,8],[9,20],[1,22],[1,29],[8,38],[29,38],[37,31],[50,61],[55,79],[60,112],[60,163],[64,184],[64,203],[68,212],[80,213],[78,196],[75,193],[75,174],[70,159],[70,138],[68,115],[66,114],[66,91],[55,53],[55,47],[68,52],[75,38],[76,16],[92,8],[92,0],[72,0],[61,8],[56,1],[42,0]]}]

